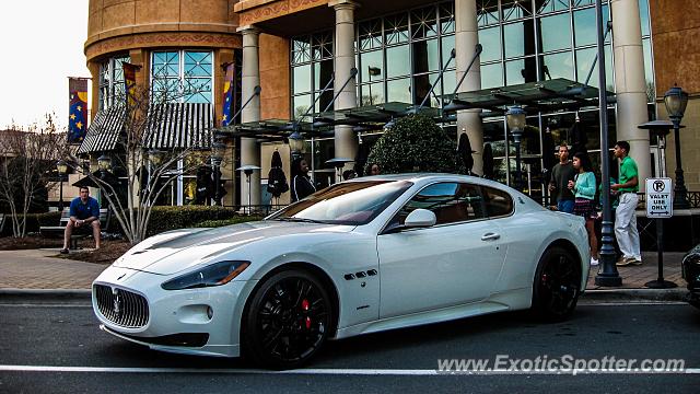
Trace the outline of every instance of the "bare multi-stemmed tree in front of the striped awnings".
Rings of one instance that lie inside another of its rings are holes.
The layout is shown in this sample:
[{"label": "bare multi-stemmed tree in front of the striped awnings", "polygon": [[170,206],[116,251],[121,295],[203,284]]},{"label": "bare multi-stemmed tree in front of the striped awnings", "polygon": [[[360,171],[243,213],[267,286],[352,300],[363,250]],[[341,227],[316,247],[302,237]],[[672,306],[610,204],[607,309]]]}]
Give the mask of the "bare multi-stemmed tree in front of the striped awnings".
[{"label": "bare multi-stemmed tree in front of the striped awnings", "polygon": [[[126,185],[115,184],[100,172],[90,172],[79,165],[78,158],[70,158],[69,165],[100,187],[131,244],[147,237],[152,208],[170,183],[209,159],[210,132],[184,128],[168,146],[159,142],[158,130],[165,120],[166,103],[177,99],[170,91],[172,89],[135,88],[128,104],[116,109],[124,113],[124,126],[112,159],[113,166],[122,170]],[[180,88],[179,96],[191,96],[198,91],[201,86]],[[121,102],[126,103],[126,97]]]}]

